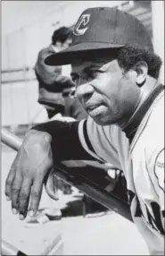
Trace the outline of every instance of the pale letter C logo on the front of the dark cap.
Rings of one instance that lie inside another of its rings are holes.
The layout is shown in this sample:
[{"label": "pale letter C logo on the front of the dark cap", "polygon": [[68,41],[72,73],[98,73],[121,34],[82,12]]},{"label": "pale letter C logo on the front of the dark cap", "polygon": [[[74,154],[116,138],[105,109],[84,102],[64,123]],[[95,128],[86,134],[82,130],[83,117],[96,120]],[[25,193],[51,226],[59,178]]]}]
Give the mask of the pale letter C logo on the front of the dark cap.
[{"label": "pale letter C logo on the front of the dark cap", "polygon": [[81,35],[85,34],[85,32],[88,29],[87,23],[89,22],[89,18],[90,18],[90,14],[83,14],[80,17],[78,23],[76,24],[76,26],[73,30],[73,34],[75,36],[81,36]]}]

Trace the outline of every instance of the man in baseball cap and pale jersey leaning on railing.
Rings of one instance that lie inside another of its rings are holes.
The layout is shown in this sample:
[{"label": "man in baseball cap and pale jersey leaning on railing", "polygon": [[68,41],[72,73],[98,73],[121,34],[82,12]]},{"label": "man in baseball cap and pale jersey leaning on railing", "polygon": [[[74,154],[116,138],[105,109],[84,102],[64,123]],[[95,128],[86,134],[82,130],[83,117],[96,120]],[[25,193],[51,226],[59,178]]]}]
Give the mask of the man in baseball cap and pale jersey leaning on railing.
[{"label": "man in baseball cap and pale jersey leaning on railing", "polygon": [[13,213],[36,214],[53,159],[109,163],[124,172],[131,215],[149,252],[163,255],[164,87],[161,58],[144,25],[117,8],[87,9],[71,46],[45,64],[71,64],[88,118],[39,124],[27,133],[6,179]]}]

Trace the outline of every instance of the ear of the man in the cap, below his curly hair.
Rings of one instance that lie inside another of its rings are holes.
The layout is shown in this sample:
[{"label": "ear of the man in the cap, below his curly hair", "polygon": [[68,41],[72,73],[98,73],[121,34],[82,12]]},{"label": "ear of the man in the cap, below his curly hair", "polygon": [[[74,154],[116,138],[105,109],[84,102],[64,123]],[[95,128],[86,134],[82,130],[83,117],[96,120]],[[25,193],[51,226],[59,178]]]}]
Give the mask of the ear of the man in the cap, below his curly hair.
[{"label": "ear of the man in the cap, below his curly hair", "polygon": [[132,69],[136,71],[136,84],[141,87],[146,81],[148,65],[144,61],[140,61]]}]

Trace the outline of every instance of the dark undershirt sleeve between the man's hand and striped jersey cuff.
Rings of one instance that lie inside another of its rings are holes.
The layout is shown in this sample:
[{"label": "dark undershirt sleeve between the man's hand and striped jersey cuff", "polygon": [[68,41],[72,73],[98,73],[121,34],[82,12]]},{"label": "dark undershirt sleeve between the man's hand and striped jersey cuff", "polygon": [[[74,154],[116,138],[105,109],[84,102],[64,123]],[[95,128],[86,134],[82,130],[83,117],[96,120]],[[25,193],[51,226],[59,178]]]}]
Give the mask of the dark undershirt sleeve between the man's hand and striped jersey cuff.
[{"label": "dark undershirt sleeve between the man's hand and striped jersey cuff", "polygon": [[54,163],[64,160],[95,160],[82,147],[78,138],[78,124],[80,122],[66,122],[54,120],[44,124],[37,124],[31,129],[47,132],[52,136],[52,152]]}]

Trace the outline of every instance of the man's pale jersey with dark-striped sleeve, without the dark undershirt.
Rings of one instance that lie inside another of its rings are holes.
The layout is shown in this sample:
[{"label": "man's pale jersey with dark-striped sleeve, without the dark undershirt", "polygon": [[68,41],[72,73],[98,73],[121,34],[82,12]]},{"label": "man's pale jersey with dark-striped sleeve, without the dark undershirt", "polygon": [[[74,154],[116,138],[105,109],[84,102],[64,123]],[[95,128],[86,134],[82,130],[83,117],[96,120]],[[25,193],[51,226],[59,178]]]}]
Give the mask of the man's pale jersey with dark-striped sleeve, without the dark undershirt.
[{"label": "man's pale jersey with dark-striped sleeve, without the dark undershirt", "polygon": [[91,156],[110,163],[111,169],[123,170],[134,223],[149,252],[164,255],[163,92],[144,115],[131,144],[118,126],[99,126],[90,117],[87,124],[79,124],[78,134]]}]

